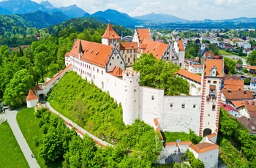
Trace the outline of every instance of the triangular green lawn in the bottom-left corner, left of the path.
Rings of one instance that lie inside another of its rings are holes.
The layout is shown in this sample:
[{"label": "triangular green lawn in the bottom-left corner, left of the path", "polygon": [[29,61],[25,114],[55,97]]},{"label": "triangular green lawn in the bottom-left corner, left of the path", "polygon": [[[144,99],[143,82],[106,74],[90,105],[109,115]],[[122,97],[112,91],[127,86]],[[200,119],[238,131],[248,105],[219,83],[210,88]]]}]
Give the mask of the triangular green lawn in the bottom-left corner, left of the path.
[{"label": "triangular green lawn in the bottom-left corner, left of the path", "polygon": [[9,123],[0,125],[0,167],[29,167]]}]

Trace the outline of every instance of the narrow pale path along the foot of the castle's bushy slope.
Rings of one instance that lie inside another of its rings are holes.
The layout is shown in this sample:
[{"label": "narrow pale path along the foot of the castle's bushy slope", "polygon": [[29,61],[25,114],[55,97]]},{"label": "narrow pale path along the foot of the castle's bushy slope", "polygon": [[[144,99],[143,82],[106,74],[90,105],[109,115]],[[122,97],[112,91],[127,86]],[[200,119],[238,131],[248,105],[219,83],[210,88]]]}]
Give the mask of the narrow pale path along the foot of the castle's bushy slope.
[{"label": "narrow pale path along the foot of the castle's bushy slope", "polygon": [[96,140],[97,142],[101,143],[102,145],[106,146],[106,145],[110,145],[110,146],[114,146],[108,142],[105,142],[101,139],[99,139],[98,137],[95,137],[93,134],[89,133],[89,131],[86,131],[85,129],[83,129],[82,127],[78,126],[78,124],[74,123],[73,121],[69,120],[69,118],[66,118],[64,115],[61,115],[59,112],[57,112],[56,110],[53,109],[53,107],[50,106],[49,102],[46,102],[47,107],[50,109],[50,111],[58,114],[62,119],[64,119],[64,121],[67,121],[69,123],[72,124],[72,126],[75,126],[75,128],[77,128],[79,131],[83,132],[83,134],[88,134],[89,137],[91,137],[93,140]]}]

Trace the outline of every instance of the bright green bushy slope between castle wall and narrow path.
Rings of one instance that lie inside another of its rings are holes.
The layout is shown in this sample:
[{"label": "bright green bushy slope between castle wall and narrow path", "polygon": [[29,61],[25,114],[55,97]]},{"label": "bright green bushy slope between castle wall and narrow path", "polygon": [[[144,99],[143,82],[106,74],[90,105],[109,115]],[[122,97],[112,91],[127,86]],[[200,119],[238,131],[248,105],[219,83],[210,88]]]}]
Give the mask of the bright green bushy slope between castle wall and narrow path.
[{"label": "bright green bushy slope between castle wall and narrow path", "polygon": [[50,104],[99,138],[118,141],[124,134],[122,109],[108,93],[68,72],[53,88]]}]

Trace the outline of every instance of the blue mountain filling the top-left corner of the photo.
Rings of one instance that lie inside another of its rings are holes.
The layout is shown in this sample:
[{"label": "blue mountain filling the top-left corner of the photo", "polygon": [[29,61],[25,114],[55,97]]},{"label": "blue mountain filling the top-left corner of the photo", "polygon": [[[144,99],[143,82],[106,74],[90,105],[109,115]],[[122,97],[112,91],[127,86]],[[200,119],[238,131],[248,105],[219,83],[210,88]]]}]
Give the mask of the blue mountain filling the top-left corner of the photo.
[{"label": "blue mountain filling the top-left corner of the photo", "polygon": [[[49,12],[42,4],[37,4],[37,2],[31,0],[8,0],[1,1],[0,7],[11,12],[11,14],[24,14],[29,12],[34,12],[37,10],[42,10],[44,12]],[[0,10],[0,14],[6,14]]]}]

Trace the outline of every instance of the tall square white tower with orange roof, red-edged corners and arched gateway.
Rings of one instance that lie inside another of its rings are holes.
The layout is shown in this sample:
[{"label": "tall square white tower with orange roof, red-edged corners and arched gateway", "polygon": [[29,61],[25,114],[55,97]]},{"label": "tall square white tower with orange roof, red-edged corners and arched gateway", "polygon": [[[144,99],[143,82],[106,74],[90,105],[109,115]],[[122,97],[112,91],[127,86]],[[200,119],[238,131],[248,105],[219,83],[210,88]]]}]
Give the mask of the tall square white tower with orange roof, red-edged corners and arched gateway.
[{"label": "tall square white tower with orange roof, red-edged corners and arched gateway", "polygon": [[205,59],[201,85],[202,105],[200,113],[200,136],[213,134],[219,127],[220,87],[224,76],[222,59]]}]

